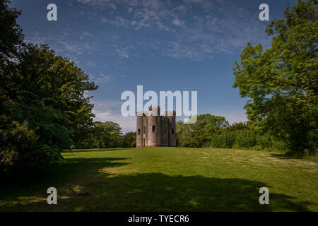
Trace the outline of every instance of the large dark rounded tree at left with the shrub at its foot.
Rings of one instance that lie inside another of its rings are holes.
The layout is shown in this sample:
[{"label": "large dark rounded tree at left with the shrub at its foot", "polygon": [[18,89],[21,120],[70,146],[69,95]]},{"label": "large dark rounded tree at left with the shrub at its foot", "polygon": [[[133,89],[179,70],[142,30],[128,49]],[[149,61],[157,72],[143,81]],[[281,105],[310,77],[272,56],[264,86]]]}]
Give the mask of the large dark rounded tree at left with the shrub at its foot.
[{"label": "large dark rounded tree at left with the shrub at its foot", "polygon": [[[61,160],[76,133],[93,124],[88,75],[46,45],[29,44],[1,73],[0,171],[31,174]],[[18,134],[18,136],[17,136]]]}]

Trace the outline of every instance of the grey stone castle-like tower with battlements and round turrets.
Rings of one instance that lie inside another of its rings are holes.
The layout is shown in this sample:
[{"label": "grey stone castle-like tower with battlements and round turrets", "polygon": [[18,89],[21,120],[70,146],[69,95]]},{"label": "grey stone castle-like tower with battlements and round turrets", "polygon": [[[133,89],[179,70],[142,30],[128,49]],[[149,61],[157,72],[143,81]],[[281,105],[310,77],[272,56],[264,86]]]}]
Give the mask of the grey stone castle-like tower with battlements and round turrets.
[{"label": "grey stone castle-like tower with battlements and round turrets", "polygon": [[160,116],[160,107],[148,107],[146,114],[137,113],[136,146],[175,147],[175,111]]}]

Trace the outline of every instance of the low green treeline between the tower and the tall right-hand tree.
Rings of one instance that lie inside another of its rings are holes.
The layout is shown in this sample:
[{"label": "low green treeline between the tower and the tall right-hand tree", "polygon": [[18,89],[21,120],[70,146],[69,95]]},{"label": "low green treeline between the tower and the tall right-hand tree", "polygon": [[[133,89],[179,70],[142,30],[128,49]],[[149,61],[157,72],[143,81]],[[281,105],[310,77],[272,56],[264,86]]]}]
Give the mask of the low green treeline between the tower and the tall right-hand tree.
[{"label": "low green treeline between the tower and the tall right-hand tree", "polygon": [[211,114],[200,114],[195,124],[177,121],[176,134],[180,147],[288,150],[287,143],[257,126],[257,123],[230,125],[225,117]]}]

